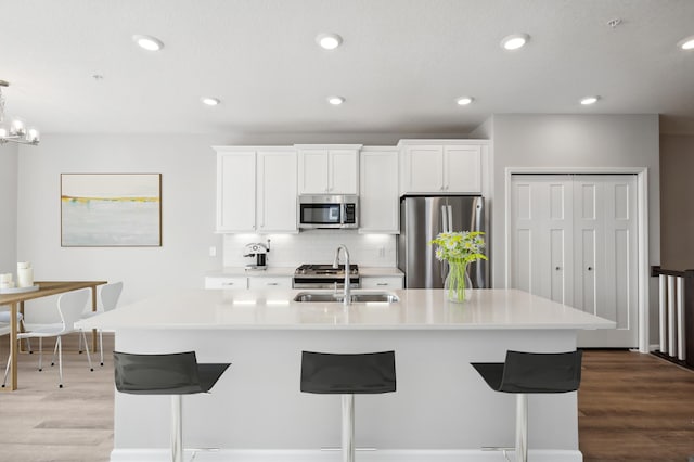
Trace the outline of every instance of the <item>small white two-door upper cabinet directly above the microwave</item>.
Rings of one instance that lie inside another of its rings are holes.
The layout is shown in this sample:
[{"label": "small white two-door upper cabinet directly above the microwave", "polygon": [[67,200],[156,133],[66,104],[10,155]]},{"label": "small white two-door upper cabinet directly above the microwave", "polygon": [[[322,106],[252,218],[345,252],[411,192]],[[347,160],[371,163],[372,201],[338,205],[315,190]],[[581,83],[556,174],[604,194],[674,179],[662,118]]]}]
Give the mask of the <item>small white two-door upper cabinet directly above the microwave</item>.
[{"label": "small white two-door upper cabinet directly above the microwave", "polygon": [[361,145],[295,145],[299,194],[357,194]]}]

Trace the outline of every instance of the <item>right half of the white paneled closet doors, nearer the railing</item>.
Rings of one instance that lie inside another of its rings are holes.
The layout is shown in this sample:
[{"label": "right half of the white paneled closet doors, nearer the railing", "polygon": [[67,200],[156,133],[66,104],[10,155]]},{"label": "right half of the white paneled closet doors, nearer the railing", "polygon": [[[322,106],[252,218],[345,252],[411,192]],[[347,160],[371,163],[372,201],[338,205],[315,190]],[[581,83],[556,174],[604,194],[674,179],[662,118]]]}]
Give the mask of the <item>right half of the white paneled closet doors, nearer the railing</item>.
[{"label": "right half of the white paneled closet doors, nearer the railing", "polygon": [[574,205],[577,235],[574,306],[617,323],[614,331],[579,332],[578,345],[637,348],[637,178],[576,176]]}]

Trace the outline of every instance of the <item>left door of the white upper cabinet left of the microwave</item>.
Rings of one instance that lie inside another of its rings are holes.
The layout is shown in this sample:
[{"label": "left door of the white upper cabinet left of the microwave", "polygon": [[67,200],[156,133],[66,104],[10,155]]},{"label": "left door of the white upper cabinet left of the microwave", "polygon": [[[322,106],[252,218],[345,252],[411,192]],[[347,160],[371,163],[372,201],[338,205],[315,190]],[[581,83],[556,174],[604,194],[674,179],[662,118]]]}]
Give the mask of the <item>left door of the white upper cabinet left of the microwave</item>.
[{"label": "left door of the white upper cabinet left of the microwave", "polygon": [[217,231],[255,231],[256,153],[217,154]]}]

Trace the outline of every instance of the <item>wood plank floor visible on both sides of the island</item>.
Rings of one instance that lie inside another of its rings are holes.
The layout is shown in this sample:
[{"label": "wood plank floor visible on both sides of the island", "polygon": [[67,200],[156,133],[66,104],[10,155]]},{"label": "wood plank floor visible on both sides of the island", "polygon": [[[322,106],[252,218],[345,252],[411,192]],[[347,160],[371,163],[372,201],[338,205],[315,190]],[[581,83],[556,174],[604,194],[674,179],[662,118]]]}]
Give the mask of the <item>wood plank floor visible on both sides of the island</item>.
[{"label": "wood plank floor visible on both sides of the island", "polygon": [[[0,338],[0,364],[8,355]],[[105,338],[113,349],[112,338]],[[66,349],[75,339],[66,342]],[[113,448],[113,361],[89,372],[66,352],[57,371],[20,358],[20,389],[0,393],[0,461],[106,462]],[[694,372],[651,355],[588,350],[578,394],[579,446],[586,462],[677,461],[694,455]],[[532,412],[532,411],[530,411]],[[532,428],[530,428],[530,432]]]}]

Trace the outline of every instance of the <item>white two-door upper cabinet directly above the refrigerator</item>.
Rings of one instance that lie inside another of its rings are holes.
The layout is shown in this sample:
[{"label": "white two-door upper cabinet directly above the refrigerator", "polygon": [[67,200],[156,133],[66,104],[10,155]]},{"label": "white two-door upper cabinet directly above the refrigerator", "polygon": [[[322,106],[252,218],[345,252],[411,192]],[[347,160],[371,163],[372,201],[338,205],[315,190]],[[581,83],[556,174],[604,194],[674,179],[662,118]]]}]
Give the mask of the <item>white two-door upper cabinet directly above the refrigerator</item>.
[{"label": "white two-door upper cabinet directly above the refrigerator", "polygon": [[402,193],[480,194],[481,152],[477,143],[430,144],[403,142]]}]

